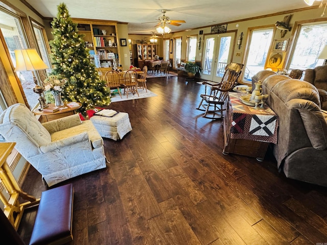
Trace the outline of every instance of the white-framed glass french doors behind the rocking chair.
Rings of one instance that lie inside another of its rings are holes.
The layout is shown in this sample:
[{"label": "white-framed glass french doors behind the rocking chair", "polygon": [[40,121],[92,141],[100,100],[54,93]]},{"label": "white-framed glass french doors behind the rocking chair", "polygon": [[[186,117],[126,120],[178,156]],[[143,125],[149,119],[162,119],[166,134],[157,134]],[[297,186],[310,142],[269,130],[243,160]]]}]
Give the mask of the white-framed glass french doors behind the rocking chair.
[{"label": "white-framed glass french doors behind the rocking chair", "polygon": [[235,33],[221,33],[204,37],[202,79],[220,82],[225,66],[231,62]]}]

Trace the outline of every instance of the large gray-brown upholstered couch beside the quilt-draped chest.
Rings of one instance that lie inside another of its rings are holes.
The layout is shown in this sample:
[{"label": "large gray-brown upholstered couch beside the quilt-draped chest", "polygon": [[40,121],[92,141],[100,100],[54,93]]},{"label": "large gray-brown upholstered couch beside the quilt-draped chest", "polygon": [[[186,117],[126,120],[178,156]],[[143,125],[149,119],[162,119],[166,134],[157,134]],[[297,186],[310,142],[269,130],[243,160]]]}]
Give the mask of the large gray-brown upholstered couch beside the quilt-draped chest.
[{"label": "large gray-brown upholstered couch beside the quilt-draped chest", "polygon": [[255,79],[262,79],[267,104],[279,117],[273,145],[278,170],[291,179],[327,186],[327,112],[321,110],[317,88],[286,75],[266,75],[258,72]]}]

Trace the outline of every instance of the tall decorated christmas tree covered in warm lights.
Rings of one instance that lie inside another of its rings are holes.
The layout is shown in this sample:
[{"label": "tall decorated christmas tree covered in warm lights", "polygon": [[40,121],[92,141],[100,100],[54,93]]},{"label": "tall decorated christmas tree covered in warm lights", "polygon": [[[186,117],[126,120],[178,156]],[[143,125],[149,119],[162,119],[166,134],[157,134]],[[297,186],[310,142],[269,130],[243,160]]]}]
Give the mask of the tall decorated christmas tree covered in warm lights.
[{"label": "tall decorated christmas tree covered in warm lights", "polygon": [[54,39],[50,41],[53,70],[51,74],[67,79],[63,87],[64,101],[79,102],[78,109],[86,116],[86,111],[110,104],[110,89],[90,62],[89,51],[85,47],[84,35],[78,33],[64,3],[58,5],[57,17],[51,22]]}]

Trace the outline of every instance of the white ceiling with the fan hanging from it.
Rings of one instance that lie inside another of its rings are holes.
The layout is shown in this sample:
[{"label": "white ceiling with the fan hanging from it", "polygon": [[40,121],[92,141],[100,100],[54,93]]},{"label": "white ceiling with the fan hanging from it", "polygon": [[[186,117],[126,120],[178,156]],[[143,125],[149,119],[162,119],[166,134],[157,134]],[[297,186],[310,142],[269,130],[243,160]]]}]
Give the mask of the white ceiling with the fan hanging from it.
[{"label": "white ceiling with the fan hanging from it", "polygon": [[[62,0],[26,0],[43,17],[55,17]],[[181,26],[169,25],[172,32],[212,26],[276,12],[308,7],[303,0],[67,0],[74,18],[128,22],[129,34],[151,34],[161,10],[172,20],[185,20]],[[316,2],[318,4],[319,2]],[[143,23],[154,21],[154,23]]]}]

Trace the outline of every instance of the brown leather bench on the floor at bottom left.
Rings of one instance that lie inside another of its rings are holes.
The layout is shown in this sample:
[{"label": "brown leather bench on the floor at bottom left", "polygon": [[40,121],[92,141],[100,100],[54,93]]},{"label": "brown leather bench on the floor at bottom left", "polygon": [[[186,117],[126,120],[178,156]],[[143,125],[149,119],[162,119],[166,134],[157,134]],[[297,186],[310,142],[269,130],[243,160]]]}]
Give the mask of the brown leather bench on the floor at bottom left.
[{"label": "brown leather bench on the floor at bottom left", "polygon": [[42,192],[30,245],[58,245],[73,240],[73,197],[73,184]]}]

